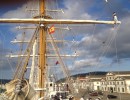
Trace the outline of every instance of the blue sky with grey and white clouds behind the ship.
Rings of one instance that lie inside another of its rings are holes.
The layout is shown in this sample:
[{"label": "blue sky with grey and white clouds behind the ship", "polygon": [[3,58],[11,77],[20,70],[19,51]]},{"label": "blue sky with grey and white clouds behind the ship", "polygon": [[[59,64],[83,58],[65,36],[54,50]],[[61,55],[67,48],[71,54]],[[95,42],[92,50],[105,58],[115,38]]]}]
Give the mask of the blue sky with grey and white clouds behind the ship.
[{"label": "blue sky with grey and white clouds behind the ship", "polygon": [[[47,0],[47,9],[63,9],[62,12],[47,12],[53,18],[113,20],[116,12],[120,25],[61,25],[71,30],[56,30],[53,35],[57,39],[73,42],[59,44],[62,54],[74,54],[77,57],[64,59],[72,74],[92,71],[129,71],[130,70],[130,1],[129,0]],[[0,3],[0,18],[31,18],[38,12],[27,9],[37,9],[38,3],[28,0],[4,0]],[[18,53],[19,45],[11,44],[15,37],[20,40],[25,32],[26,40],[33,31],[17,30],[17,26],[29,24],[0,24],[0,78],[11,78],[17,59],[5,55]],[[31,25],[33,26],[33,25]],[[68,47],[68,48],[65,48]],[[69,61],[67,61],[69,60]],[[51,60],[50,60],[51,61]],[[51,61],[53,64],[55,60]],[[57,65],[60,66],[60,65]],[[54,70],[54,69],[53,69]],[[57,69],[55,69],[56,71]],[[58,72],[57,72],[58,73]]]}]

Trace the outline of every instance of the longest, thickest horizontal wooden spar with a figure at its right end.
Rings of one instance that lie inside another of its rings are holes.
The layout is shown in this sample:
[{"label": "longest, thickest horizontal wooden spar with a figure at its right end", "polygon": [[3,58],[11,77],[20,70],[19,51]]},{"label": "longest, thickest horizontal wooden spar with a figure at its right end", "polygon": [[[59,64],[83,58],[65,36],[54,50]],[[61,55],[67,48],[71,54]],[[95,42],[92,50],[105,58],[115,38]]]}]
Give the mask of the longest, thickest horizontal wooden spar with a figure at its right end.
[{"label": "longest, thickest horizontal wooden spar with a figure at its right end", "polygon": [[[115,21],[100,21],[100,20],[70,20],[70,19],[0,19],[0,23],[34,23],[34,24],[115,24]],[[121,24],[117,21],[116,24]]]}]

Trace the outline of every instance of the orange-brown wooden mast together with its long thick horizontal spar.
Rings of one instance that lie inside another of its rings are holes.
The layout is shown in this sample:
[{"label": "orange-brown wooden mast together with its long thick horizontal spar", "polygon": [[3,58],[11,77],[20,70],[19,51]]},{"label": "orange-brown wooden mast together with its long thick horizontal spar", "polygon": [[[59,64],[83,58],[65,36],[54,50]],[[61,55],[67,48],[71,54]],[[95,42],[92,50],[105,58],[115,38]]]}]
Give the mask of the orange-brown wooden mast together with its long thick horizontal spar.
[{"label": "orange-brown wooden mast together with its long thick horizontal spar", "polygon": [[120,21],[97,21],[97,20],[65,20],[46,19],[45,0],[39,2],[39,17],[31,19],[0,19],[0,23],[33,23],[39,24],[39,98],[45,96],[45,74],[46,74],[46,33],[47,24],[120,24]]}]

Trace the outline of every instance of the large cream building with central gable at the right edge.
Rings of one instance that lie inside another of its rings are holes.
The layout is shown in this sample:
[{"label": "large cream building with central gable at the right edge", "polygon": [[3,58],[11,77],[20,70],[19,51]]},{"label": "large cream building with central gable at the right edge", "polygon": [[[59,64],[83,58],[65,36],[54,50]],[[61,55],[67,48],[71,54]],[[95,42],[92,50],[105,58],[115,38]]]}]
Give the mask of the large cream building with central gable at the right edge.
[{"label": "large cream building with central gable at the right edge", "polygon": [[130,72],[108,72],[101,79],[102,91],[130,93]]}]

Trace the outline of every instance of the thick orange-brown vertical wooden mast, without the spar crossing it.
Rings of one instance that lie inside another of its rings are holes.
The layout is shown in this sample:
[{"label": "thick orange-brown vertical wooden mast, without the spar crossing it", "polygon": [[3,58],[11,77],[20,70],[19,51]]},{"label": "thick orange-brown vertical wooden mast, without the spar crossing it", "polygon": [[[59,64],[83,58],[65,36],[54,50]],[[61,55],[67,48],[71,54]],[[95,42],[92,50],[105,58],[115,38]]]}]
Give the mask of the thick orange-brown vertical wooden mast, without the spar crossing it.
[{"label": "thick orange-brown vertical wooden mast, without the spar crossing it", "polygon": [[[45,16],[45,0],[40,0],[40,17]],[[39,32],[39,88],[45,88],[45,52],[46,52],[46,32],[45,28],[41,27]],[[40,91],[39,97],[43,97],[43,90]]]}]

